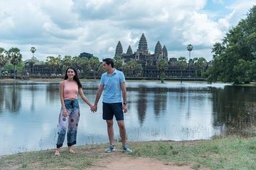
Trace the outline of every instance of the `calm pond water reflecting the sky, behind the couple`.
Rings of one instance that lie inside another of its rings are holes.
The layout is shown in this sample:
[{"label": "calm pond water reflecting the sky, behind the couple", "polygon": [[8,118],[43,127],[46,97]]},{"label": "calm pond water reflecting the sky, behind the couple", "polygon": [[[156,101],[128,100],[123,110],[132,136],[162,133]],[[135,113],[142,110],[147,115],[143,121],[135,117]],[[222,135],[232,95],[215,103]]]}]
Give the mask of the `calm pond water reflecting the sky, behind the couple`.
[{"label": "calm pond water reflecting the sky, behind the couple", "polygon": [[[94,102],[98,82],[83,82]],[[55,147],[59,83],[0,86],[0,155]],[[225,84],[127,82],[129,141],[198,140],[255,125],[256,89]],[[80,98],[78,145],[108,142],[102,120]],[[114,132],[118,132],[114,125]],[[115,134],[115,139],[119,139]],[[17,142],[18,141],[18,142]]]}]

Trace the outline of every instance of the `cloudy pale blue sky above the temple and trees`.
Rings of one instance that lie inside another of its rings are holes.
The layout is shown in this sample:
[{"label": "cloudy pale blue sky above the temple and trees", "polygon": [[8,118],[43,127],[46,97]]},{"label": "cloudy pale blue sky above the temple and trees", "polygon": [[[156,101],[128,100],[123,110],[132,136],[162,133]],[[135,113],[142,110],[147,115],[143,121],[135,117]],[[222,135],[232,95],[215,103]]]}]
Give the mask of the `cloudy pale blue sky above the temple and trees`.
[{"label": "cloudy pale blue sky above the temple and trees", "polygon": [[168,57],[213,59],[211,48],[246,18],[255,0],[0,0],[0,47],[18,47],[22,60],[72,57],[88,52],[100,60],[136,52],[144,33],[148,49],[166,46]]}]

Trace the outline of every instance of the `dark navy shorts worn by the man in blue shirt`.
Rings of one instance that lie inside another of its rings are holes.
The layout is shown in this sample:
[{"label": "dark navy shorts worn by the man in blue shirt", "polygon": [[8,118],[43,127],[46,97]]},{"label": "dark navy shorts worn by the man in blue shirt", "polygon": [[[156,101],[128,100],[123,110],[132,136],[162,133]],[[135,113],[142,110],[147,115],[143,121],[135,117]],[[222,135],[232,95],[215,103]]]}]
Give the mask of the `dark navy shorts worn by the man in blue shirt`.
[{"label": "dark navy shorts worn by the man in blue shirt", "polygon": [[104,103],[103,102],[103,114],[104,120],[112,120],[113,117],[116,120],[124,120],[124,113],[122,111],[122,102],[120,103]]}]

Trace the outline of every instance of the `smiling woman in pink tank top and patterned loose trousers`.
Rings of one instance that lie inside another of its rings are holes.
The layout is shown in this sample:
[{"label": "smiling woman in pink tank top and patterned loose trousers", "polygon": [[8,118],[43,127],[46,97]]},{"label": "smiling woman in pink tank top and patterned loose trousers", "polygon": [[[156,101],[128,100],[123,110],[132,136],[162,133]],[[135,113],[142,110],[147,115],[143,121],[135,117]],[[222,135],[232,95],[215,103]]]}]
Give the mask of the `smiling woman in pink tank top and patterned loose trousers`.
[{"label": "smiling woman in pink tank top and patterned loose trousers", "polygon": [[92,110],[92,104],[85,97],[82,91],[82,84],[78,78],[78,74],[75,69],[68,67],[65,72],[64,81],[60,82],[60,116],[58,121],[58,140],[57,149],[55,151],[56,156],[60,156],[60,147],[63,146],[65,140],[65,133],[68,129],[68,152],[75,153],[71,148],[76,144],[76,137],[78,132],[78,122],[80,118],[80,108],[78,103],[78,94]]}]

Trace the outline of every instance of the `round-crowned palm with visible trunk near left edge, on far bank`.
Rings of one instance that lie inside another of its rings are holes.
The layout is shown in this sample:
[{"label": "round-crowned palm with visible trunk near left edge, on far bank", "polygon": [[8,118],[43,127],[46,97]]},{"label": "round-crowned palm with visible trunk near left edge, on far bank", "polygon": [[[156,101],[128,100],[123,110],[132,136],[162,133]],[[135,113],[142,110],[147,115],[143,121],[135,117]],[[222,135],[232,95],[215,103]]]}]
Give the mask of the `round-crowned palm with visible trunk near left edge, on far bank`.
[{"label": "round-crowned palm with visible trunk near left edge, on far bank", "polygon": [[16,65],[22,62],[22,55],[17,47],[11,47],[10,50],[6,51],[6,55],[10,60],[11,64],[14,65],[14,79],[16,79]]}]

